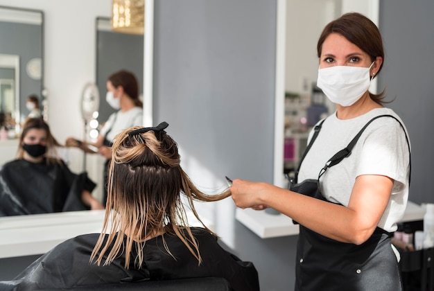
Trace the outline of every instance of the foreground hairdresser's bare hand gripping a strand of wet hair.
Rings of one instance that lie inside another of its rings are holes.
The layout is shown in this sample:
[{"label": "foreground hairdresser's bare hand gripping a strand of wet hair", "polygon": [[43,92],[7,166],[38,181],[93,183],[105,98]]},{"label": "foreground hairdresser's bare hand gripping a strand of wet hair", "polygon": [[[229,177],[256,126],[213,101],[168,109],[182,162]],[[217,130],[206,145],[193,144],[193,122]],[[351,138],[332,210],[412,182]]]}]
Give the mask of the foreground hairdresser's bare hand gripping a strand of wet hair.
[{"label": "foreground hairdresser's bare hand gripping a strand of wet hair", "polygon": [[251,207],[255,210],[263,210],[268,206],[263,203],[262,197],[267,195],[269,184],[263,182],[250,182],[234,179],[231,186],[232,199],[236,206],[245,209]]}]

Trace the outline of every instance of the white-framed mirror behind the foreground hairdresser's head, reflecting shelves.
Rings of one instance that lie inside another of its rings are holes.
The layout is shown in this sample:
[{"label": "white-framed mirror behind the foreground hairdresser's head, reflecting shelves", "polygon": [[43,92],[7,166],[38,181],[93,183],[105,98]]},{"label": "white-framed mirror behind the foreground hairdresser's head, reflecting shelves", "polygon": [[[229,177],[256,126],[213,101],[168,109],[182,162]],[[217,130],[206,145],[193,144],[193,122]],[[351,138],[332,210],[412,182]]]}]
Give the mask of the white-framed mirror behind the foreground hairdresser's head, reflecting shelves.
[{"label": "white-framed mirror behind the foreground hairdresser's head, reflecting shelves", "polygon": [[[277,6],[274,184],[286,187],[284,173],[298,166],[312,124],[336,110],[315,88],[318,37],[329,21],[345,12],[361,12],[378,26],[379,0],[278,0]],[[309,25],[300,29],[306,21]],[[376,92],[376,82],[370,91]]]}]

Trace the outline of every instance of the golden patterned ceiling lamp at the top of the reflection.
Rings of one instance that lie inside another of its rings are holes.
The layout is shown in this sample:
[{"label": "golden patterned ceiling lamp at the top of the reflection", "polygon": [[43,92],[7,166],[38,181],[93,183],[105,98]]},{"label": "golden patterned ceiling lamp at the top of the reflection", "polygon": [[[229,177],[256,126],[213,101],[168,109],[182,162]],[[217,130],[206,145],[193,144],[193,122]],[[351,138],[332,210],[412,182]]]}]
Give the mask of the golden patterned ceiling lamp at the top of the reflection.
[{"label": "golden patterned ceiling lamp at the top of the reflection", "polygon": [[112,30],[118,33],[143,35],[145,0],[113,0]]}]

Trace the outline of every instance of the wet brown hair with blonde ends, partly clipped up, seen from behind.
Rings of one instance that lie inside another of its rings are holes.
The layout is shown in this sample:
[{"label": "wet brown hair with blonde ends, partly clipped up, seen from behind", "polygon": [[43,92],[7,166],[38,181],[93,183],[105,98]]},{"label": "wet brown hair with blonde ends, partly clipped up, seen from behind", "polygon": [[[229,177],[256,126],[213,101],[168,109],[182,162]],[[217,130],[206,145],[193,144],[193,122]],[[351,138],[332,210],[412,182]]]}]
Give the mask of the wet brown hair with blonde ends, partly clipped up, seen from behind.
[{"label": "wet brown hair with blonde ends, partly clipped up, seen from behind", "polygon": [[[218,195],[202,193],[182,170],[177,143],[171,136],[164,130],[129,134],[139,129],[144,127],[130,127],[115,137],[103,231],[90,261],[108,265],[125,252],[125,268],[131,260],[139,268],[144,262],[142,250],[146,240],[168,233],[180,238],[200,264],[198,243],[189,228],[181,193],[203,227],[213,233],[200,220],[193,201],[222,200],[230,195],[230,191],[227,189]],[[107,240],[105,233],[109,233]],[[162,239],[166,251],[171,254],[164,236]],[[131,258],[134,241],[137,257]]]}]

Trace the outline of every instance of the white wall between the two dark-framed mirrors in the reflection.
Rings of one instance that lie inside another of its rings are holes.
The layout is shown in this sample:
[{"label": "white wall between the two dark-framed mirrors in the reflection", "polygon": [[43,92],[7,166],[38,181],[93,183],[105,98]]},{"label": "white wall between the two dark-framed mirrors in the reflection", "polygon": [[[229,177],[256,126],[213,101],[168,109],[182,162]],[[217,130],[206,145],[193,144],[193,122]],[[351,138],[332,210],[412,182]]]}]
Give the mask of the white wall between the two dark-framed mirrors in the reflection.
[{"label": "white wall between the two dark-framed mirrors in the reflection", "polygon": [[[111,0],[0,0],[2,6],[44,12],[44,85],[49,125],[60,141],[83,137],[80,96],[95,81],[95,19],[110,16]],[[83,156],[69,152],[71,170],[83,170]]]}]

